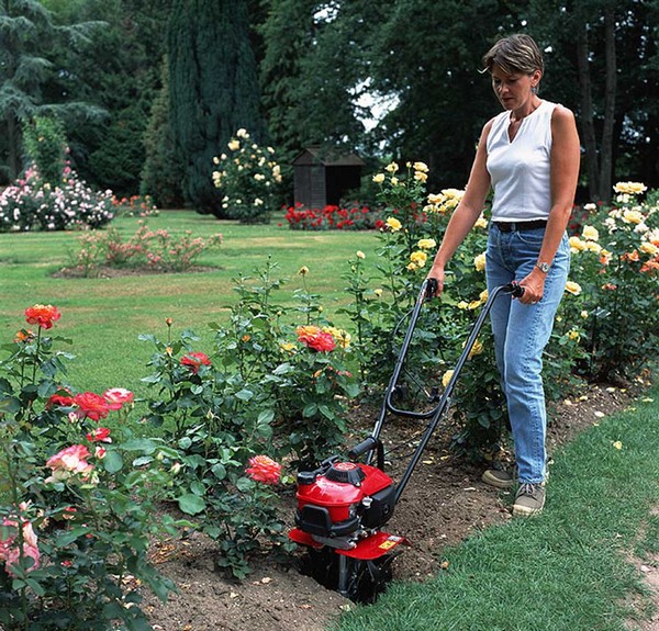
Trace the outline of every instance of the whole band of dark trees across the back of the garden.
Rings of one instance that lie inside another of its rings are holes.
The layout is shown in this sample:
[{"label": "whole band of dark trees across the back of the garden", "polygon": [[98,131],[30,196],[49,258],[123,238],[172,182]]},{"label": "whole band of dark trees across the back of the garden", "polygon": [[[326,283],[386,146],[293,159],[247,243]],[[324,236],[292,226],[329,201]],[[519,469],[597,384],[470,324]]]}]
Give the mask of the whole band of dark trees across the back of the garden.
[{"label": "whole band of dark trees across the back of the garden", "polygon": [[659,0],[1,0],[0,168],[20,172],[22,122],[57,108],[86,179],[160,204],[217,214],[212,157],[241,127],[283,167],[348,147],[463,185],[499,111],[481,56],[525,31],[541,94],[577,113],[580,194],[606,200],[615,180],[659,185],[658,23]]}]

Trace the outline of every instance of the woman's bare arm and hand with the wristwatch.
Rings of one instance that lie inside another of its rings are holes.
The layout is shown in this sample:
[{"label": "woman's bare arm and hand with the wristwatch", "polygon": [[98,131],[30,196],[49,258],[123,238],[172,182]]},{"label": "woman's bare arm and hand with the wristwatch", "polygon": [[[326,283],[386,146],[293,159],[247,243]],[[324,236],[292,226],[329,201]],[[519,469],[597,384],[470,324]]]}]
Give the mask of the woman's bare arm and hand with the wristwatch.
[{"label": "woman's bare arm and hand with the wristwatch", "polygon": [[[570,219],[574,192],[579,179],[581,149],[574,114],[567,108],[557,106],[551,116],[551,210],[545,229],[545,239],[538,263],[554,260],[560,240]],[[520,284],[525,292],[521,302],[535,303],[543,297],[547,273],[537,266]]]}]

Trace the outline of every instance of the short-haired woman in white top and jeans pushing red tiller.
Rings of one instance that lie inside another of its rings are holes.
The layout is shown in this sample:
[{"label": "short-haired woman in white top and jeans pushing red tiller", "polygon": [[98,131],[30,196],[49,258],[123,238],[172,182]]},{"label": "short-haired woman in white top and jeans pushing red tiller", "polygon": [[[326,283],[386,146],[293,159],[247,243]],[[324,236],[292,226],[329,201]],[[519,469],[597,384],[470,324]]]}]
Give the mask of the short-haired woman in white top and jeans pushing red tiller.
[{"label": "short-haired woman in white top and jeans pushing red tiller", "polygon": [[[579,176],[579,135],[572,112],[541,100],[543,55],[528,35],[500,40],[483,57],[504,111],[483,127],[465,196],[456,209],[428,278],[444,289],[444,268],[479,218],[493,189],[488,238],[488,289],[517,281],[520,298],[499,297],[491,311],[496,363],[515,443],[518,489],[513,515],[545,506],[546,410],[543,350],[570,264],[566,226]],[[483,481],[513,486],[505,471]]]}]

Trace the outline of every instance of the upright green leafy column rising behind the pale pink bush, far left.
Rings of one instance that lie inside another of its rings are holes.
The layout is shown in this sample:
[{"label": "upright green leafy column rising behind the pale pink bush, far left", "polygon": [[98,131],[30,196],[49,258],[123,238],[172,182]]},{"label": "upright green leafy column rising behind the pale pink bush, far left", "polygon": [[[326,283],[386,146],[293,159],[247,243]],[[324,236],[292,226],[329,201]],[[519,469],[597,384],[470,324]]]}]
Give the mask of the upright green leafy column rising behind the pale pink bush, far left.
[{"label": "upright green leafy column rising behind the pale pink bush, far left", "polygon": [[55,187],[62,181],[66,165],[66,138],[57,119],[35,116],[23,128],[27,158],[34,164],[44,183]]}]

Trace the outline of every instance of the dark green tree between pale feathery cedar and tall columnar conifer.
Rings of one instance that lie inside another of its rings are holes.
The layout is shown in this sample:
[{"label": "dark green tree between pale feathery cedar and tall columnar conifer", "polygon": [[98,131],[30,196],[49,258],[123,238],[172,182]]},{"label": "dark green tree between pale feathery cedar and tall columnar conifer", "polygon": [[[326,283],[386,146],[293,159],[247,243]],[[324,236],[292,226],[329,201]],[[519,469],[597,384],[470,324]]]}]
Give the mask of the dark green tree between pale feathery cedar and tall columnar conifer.
[{"label": "dark green tree between pale feathery cedar and tall columnar conifer", "polygon": [[[51,0],[54,2],[55,0]],[[59,91],[103,108],[102,121],[67,128],[74,166],[90,182],[119,195],[136,194],[146,158],[144,133],[160,86],[170,0],[85,0],[60,3],[62,19],[103,20],[107,27],[79,50],[60,49],[63,64],[78,58]],[[59,7],[59,4],[58,4]]]}]

